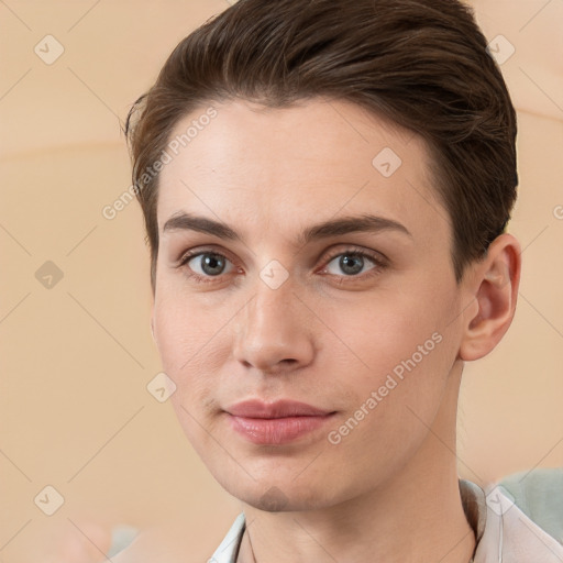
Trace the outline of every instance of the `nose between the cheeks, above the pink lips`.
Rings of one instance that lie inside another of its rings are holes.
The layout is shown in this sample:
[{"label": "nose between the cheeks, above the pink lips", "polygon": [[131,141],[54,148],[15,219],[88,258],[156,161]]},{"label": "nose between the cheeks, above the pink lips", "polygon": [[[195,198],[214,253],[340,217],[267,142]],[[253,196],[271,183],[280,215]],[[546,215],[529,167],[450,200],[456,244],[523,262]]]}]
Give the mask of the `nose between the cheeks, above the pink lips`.
[{"label": "nose between the cheeks, above the pink lips", "polygon": [[238,316],[234,357],[272,374],[309,364],[314,355],[311,316],[290,279],[276,289],[258,279],[254,298]]}]

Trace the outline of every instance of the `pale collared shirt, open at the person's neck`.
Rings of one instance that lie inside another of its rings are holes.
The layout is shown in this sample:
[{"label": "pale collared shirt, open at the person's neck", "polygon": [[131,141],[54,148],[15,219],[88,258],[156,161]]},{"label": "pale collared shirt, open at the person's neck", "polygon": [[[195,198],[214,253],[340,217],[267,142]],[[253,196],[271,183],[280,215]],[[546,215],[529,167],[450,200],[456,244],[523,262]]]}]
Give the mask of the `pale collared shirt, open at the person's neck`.
[{"label": "pale collared shirt, open at the person's neck", "polygon": [[[459,483],[474,563],[563,563],[563,470],[516,473],[485,490]],[[241,512],[208,563],[236,563],[245,525]]]}]

